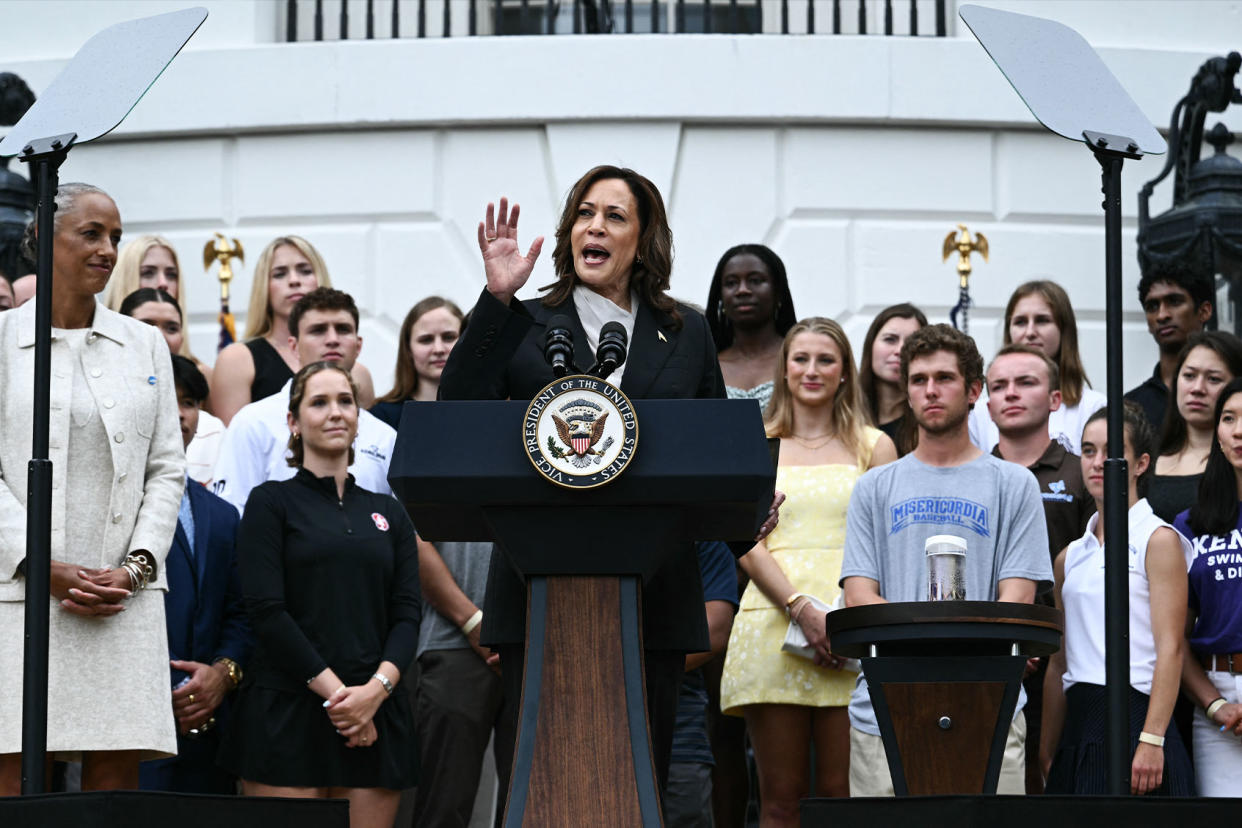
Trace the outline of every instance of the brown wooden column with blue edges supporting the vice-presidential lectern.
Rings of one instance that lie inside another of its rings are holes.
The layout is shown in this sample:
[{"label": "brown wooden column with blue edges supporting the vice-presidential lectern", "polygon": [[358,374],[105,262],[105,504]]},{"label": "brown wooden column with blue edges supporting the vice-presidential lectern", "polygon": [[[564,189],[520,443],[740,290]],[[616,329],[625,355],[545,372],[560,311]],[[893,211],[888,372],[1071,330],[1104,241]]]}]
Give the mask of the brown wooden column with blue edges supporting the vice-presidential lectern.
[{"label": "brown wooden column with blue edges supporting the vice-presidential lectern", "polygon": [[505,828],[660,826],[638,578],[529,578]]}]

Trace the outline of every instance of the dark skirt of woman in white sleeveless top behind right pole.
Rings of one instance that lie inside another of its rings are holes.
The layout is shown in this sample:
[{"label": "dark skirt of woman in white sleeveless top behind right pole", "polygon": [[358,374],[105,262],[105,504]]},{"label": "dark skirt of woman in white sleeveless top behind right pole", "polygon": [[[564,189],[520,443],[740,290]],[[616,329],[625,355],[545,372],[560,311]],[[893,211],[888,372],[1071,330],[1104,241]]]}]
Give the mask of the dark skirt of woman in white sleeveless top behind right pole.
[{"label": "dark skirt of woman in white sleeveless top behind right pole", "polygon": [[[1150,698],[1134,688],[1130,691],[1130,756],[1139,746],[1139,734],[1148,718]],[[1066,690],[1066,725],[1052,758],[1045,793],[1108,794],[1108,747],[1104,744],[1108,721],[1108,691],[1098,684],[1074,684]],[[1148,796],[1195,796],[1195,771],[1177,729],[1165,729],[1164,778]]]}]

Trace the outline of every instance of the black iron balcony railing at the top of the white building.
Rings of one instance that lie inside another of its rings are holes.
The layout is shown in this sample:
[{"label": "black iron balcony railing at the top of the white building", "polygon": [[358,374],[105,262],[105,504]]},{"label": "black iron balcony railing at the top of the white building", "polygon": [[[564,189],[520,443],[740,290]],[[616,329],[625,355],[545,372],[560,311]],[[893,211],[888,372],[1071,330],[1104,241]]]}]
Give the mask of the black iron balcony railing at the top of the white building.
[{"label": "black iron balcony railing at the top of the white building", "polygon": [[[286,0],[284,38],[297,42],[653,32],[944,37],[945,2],[946,0]],[[904,14],[894,10],[894,5],[904,6]]]}]

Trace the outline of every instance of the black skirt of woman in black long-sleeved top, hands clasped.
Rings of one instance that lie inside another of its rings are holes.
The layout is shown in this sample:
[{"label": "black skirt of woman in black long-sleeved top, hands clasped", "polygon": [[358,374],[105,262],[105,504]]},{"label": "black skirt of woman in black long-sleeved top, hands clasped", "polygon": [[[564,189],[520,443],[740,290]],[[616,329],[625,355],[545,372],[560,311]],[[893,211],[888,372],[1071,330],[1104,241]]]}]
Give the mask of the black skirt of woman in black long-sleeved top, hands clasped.
[{"label": "black skirt of woman in black long-sleeved top, hands clasped", "polygon": [[375,713],[378,739],[345,747],[310,690],[243,684],[220,746],[220,765],[250,782],[286,787],[390,788],[417,785],[410,696],[399,689]]}]

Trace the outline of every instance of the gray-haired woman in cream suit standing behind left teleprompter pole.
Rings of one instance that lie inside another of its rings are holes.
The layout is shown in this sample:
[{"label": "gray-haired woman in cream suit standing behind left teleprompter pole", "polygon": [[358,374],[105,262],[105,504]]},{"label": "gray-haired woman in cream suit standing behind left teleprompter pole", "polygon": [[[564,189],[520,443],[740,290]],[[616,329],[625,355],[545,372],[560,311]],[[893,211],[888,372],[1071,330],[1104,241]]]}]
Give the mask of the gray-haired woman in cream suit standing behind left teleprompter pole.
[{"label": "gray-haired woman in cream suit standing behind left teleprompter pole", "polygon": [[[56,206],[47,750],[81,756],[84,790],[137,788],[140,760],[176,752],[161,592],[185,456],[163,338],[94,298],[117,205],[67,184]],[[35,304],[0,315],[0,794],[20,787]]]}]

